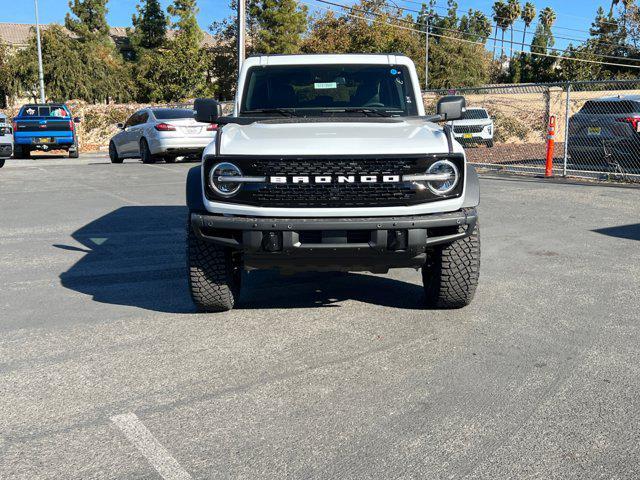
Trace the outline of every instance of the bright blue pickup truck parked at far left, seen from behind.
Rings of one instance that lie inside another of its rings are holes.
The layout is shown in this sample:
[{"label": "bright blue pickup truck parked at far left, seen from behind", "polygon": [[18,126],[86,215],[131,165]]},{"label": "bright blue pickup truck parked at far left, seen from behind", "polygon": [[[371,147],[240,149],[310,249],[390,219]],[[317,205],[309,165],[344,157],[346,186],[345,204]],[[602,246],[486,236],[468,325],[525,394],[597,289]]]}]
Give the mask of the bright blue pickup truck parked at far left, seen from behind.
[{"label": "bright blue pickup truck parked at far left, seen from behind", "polygon": [[14,158],[29,158],[34,150],[66,150],[78,158],[79,122],[62,103],[24,105],[13,118]]}]

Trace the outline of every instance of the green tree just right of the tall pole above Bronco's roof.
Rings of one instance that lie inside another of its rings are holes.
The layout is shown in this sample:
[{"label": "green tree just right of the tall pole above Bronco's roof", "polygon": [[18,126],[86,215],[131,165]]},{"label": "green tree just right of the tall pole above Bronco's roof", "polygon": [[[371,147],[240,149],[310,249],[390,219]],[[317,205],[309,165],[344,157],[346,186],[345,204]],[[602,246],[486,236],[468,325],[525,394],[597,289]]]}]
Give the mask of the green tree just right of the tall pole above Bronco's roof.
[{"label": "green tree just right of the tall pole above Bronco's roof", "polygon": [[307,7],[296,0],[253,0],[249,15],[257,32],[254,50],[260,53],[297,53],[307,29]]}]

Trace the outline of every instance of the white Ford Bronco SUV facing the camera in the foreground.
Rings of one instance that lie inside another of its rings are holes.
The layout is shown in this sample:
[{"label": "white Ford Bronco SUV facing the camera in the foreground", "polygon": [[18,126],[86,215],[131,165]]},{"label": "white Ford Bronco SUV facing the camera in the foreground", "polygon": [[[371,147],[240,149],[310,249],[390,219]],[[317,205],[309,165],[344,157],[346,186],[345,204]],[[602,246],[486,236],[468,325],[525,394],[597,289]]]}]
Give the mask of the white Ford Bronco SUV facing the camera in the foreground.
[{"label": "white Ford Bronco SUV facing the camera in the foreground", "polygon": [[449,125],[463,97],[425,115],[401,55],[247,59],[233,114],[187,178],[187,258],[201,311],[238,300],[243,271],[422,269],[425,303],[459,308],[480,268],[478,176]]}]

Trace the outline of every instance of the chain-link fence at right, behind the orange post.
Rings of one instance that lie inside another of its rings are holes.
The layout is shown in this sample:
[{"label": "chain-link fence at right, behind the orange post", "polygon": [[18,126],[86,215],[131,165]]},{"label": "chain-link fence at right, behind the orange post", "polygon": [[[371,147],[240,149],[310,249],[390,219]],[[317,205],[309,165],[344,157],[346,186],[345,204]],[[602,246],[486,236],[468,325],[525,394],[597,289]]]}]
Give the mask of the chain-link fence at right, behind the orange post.
[{"label": "chain-link fence at right, behind the orange post", "polygon": [[449,94],[467,98],[453,131],[478,167],[544,174],[554,117],[554,175],[640,182],[640,80],[434,90],[427,110]]}]

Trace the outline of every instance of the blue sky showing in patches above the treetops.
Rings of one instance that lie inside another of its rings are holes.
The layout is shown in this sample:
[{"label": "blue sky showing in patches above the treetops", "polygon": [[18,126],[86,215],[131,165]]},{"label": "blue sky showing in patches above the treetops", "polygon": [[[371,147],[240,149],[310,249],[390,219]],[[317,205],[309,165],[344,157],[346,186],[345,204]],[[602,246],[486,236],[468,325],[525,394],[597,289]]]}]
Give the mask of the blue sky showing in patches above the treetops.
[{"label": "blue sky showing in patches above the treetops", "polygon": [[[13,1],[15,2],[15,0]],[[313,0],[304,1],[309,4],[314,3]],[[352,3],[352,0],[333,1],[344,4]],[[411,2],[408,0],[395,0],[395,3],[407,8],[419,8],[418,5],[412,3],[413,1],[415,0],[411,0]],[[64,21],[65,13],[68,11],[67,0],[39,0],[39,2],[40,15],[43,23]],[[0,22],[32,23],[33,3],[27,0],[20,0],[19,3],[21,6],[11,11],[7,11],[6,9],[0,11]],[[163,0],[162,3],[166,7],[171,3],[171,0]],[[458,3],[462,11],[466,11],[469,8],[476,8],[485,13],[490,13],[493,0],[459,0]],[[524,0],[522,0],[521,3],[524,4]],[[605,10],[608,10],[610,5],[610,3],[602,0],[533,0],[533,3],[537,5],[538,10],[550,6],[557,12],[558,20],[554,30],[556,36],[577,39],[583,39],[587,36],[586,30],[589,29],[589,25],[595,16],[598,6],[602,5]],[[130,25],[131,15],[135,11],[136,4],[137,0],[110,0],[108,4],[109,23],[113,26]],[[206,28],[214,20],[220,20],[231,14],[228,0],[199,0],[198,4],[200,6],[199,21],[203,28]],[[446,0],[438,0],[438,5],[444,7]],[[514,28],[521,27],[516,26]],[[582,32],[572,29],[581,30]],[[515,33],[514,39],[519,41],[521,40],[521,36],[522,34]],[[508,37],[509,35],[507,34],[506,38]],[[557,39],[556,47],[565,48],[568,43],[569,40]]]}]

